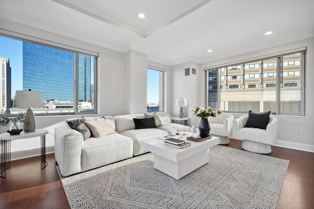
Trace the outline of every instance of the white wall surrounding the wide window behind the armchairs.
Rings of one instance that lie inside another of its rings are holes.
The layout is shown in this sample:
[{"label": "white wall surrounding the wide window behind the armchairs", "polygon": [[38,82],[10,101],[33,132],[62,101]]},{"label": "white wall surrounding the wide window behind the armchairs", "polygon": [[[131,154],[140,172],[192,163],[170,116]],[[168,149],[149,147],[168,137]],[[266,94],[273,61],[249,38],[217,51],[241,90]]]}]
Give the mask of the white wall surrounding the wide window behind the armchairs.
[{"label": "white wall surrounding the wide window behind the armchairs", "polygon": [[[215,65],[236,62],[239,60],[250,59],[272,53],[278,53],[300,47],[307,47],[306,53],[306,116],[276,116],[278,118],[278,140],[277,145],[289,148],[296,148],[314,152],[314,38],[301,40],[281,46],[266,48],[235,57],[222,60],[216,60],[201,65],[201,68],[207,68]],[[205,89],[205,81],[198,84],[200,91]],[[203,103],[206,101],[203,97]],[[234,114],[235,118],[243,114]],[[195,124],[197,125],[197,124]],[[300,128],[306,128],[306,134],[300,133]]]}]

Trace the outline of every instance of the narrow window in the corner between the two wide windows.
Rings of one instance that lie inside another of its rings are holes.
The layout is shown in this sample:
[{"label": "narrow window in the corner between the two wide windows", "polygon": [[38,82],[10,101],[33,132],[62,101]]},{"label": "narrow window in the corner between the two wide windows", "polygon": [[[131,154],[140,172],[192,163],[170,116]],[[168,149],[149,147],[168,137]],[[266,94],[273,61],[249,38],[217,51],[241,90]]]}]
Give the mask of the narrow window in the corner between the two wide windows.
[{"label": "narrow window in the corner between the two wide windows", "polygon": [[147,113],[162,112],[164,71],[147,69]]}]

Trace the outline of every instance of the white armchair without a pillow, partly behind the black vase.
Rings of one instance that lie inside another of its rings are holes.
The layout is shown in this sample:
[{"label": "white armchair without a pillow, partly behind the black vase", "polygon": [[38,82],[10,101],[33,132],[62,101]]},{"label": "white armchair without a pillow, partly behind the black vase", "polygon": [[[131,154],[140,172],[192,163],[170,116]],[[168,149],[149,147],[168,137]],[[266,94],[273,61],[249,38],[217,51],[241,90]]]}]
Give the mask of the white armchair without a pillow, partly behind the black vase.
[{"label": "white armchair without a pillow, partly behind the black vase", "polygon": [[232,135],[234,116],[222,113],[216,117],[209,117],[209,134],[219,138],[219,144],[229,144],[229,136]]}]

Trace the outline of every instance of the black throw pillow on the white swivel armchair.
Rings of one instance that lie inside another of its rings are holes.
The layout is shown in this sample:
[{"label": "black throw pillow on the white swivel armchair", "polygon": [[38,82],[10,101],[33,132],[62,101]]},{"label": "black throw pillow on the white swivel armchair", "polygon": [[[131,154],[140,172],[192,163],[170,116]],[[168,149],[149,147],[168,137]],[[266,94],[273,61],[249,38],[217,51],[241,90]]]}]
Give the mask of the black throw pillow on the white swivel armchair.
[{"label": "black throw pillow on the white swivel armchair", "polygon": [[247,123],[244,127],[246,128],[260,128],[265,129],[269,121],[270,111],[266,113],[257,114],[253,111],[249,111],[249,118],[247,119]]}]

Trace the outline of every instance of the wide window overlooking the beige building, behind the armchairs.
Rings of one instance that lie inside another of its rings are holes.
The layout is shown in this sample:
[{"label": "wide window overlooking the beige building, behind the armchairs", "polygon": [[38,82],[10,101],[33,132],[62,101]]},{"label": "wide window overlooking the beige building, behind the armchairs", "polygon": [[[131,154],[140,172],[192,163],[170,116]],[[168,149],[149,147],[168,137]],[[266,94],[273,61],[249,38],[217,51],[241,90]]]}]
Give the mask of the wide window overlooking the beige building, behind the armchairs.
[{"label": "wide window overlooking the beige building, behind the armchairs", "polygon": [[[304,116],[305,51],[205,69],[208,107]],[[214,80],[213,77],[220,78]],[[213,88],[213,86],[220,88]]]}]

